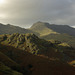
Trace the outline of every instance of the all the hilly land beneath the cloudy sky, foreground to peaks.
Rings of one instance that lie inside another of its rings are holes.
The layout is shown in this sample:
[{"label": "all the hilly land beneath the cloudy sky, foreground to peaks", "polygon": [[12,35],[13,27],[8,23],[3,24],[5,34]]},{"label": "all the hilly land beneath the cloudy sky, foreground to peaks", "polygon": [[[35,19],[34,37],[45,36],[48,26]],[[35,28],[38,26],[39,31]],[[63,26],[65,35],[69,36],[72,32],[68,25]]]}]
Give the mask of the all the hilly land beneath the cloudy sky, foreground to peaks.
[{"label": "all the hilly land beneath the cloudy sky, foreground to peaks", "polygon": [[0,75],[74,75],[74,47],[75,29],[67,25],[0,24]]}]

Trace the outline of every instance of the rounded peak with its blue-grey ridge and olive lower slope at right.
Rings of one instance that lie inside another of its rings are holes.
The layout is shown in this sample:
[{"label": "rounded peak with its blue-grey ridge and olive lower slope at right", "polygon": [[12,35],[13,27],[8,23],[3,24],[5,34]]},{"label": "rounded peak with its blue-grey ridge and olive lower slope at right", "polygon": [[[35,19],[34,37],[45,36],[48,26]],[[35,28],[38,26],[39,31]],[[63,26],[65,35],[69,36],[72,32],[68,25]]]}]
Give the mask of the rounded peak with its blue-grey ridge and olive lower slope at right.
[{"label": "rounded peak with its blue-grey ridge and olive lower slope at right", "polygon": [[68,25],[55,25],[46,22],[37,22],[32,25],[30,30],[38,33],[39,37],[45,40],[59,40],[75,47],[75,28]]}]

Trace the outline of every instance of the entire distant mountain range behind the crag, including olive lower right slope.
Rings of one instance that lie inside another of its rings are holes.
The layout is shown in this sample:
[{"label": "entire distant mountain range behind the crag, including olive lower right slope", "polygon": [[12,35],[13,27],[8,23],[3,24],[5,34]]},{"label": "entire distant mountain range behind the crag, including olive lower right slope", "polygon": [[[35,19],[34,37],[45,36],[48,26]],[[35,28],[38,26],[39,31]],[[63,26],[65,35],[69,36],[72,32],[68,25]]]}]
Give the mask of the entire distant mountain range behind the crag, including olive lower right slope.
[{"label": "entire distant mountain range behind the crag, including olive lower right slope", "polygon": [[31,28],[24,29],[10,24],[0,24],[0,34],[13,33],[34,33],[40,38],[67,42],[71,46],[75,47],[75,28],[72,28],[68,25],[55,25],[46,22],[36,22]]}]

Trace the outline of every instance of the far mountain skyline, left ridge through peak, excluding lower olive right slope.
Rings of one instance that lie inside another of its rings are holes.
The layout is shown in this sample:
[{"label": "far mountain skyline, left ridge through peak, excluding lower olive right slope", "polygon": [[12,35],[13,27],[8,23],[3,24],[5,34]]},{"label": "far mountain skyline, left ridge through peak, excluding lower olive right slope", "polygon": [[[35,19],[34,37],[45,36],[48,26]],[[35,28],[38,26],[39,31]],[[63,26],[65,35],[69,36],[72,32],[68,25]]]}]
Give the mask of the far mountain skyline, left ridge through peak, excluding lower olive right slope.
[{"label": "far mountain skyline, left ridge through peak, excluding lower olive right slope", "polygon": [[75,36],[75,28],[72,28],[68,25],[55,25],[46,22],[37,22],[34,23],[31,28],[24,29],[10,24],[3,25],[0,23],[0,34],[12,33],[35,33],[38,36],[66,33]]}]

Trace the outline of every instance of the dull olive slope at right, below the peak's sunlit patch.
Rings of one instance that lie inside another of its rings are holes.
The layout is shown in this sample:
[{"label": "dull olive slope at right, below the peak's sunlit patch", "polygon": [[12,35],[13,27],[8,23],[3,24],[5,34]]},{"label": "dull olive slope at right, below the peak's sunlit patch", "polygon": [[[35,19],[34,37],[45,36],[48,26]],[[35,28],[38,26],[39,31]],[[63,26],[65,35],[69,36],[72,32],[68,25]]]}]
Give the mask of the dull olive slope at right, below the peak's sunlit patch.
[{"label": "dull olive slope at right, below the peak's sunlit patch", "polygon": [[75,37],[70,36],[68,34],[49,34],[49,35],[43,36],[41,38],[43,38],[45,40],[59,40],[61,42],[66,42],[75,48]]}]

